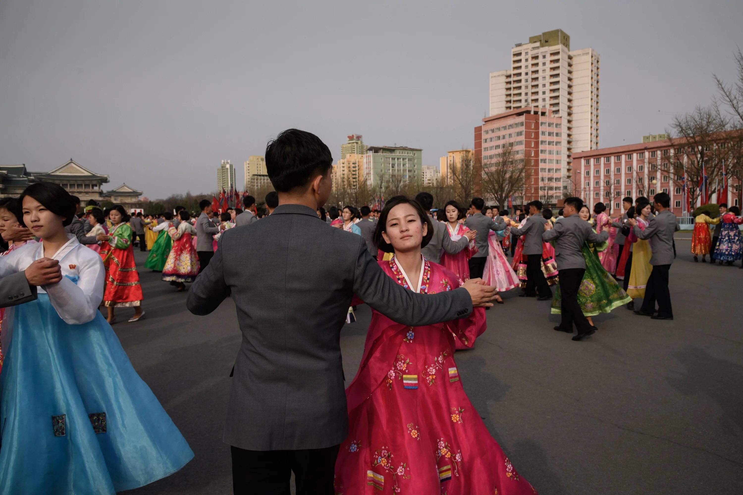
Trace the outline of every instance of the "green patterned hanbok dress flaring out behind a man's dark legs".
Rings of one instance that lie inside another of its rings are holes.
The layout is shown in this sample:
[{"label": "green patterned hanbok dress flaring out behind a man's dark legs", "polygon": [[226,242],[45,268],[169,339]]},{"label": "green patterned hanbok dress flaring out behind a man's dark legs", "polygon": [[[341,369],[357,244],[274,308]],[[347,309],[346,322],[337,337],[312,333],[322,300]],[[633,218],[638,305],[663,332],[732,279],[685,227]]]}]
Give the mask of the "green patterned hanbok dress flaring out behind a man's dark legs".
[{"label": "green patterned hanbok dress flaring out behind a man's dark legs", "polygon": [[[583,258],[585,258],[585,274],[578,289],[578,304],[584,316],[595,316],[599,313],[611,312],[617,306],[623,306],[632,301],[632,298],[624,292],[622,286],[614,280],[609,272],[601,265],[597,255],[606,249],[608,243],[594,245],[583,243]],[[559,285],[552,297],[552,314],[559,315],[562,311],[560,303],[562,295]]]}]

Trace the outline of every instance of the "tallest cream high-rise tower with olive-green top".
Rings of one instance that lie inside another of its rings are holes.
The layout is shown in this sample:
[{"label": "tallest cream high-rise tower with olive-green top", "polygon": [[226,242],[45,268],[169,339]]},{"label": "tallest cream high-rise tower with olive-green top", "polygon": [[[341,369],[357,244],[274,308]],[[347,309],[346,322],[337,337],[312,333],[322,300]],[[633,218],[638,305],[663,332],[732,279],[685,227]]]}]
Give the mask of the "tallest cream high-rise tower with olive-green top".
[{"label": "tallest cream high-rise tower with olive-green top", "polygon": [[548,108],[562,117],[562,187],[571,189],[572,154],[599,146],[599,55],[570,49],[558,29],[511,49],[511,68],[490,73],[490,116],[518,108]]}]

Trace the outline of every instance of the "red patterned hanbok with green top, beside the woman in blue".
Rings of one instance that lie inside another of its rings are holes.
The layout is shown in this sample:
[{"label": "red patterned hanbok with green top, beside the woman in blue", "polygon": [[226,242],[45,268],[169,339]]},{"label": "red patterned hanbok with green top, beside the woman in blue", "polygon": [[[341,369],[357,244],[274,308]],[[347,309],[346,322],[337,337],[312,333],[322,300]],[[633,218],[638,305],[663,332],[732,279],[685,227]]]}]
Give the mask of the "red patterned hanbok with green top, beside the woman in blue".
[{"label": "red patterned hanbok with green top, beside the woman in blue", "polygon": [[106,291],[103,304],[113,307],[132,307],[142,305],[142,286],[137,266],[134,264],[132,248],[132,227],[120,223],[111,233],[108,241],[100,246],[100,256],[106,266]]}]

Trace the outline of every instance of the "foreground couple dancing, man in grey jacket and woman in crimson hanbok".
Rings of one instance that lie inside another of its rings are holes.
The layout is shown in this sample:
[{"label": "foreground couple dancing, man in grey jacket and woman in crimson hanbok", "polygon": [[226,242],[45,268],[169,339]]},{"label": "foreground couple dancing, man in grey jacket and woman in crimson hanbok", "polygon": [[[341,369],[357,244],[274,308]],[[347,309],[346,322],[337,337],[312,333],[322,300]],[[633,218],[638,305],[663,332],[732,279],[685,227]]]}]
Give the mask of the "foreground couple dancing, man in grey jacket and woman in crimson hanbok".
[{"label": "foreground couple dancing, man in grey jacket and woman in crimson hanbok", "polygon": [[[535,493],[470,404],[452,355],[484,327],[493,287],[421,256],[433,226],[415,201],[386,203],[374,240],[394,253],[387,261],[319,220],[332,157],[314,134],[284,131],[265,157],[279,206],[224,232],[187,298],[198,315],[227,297],[237,307],[224,428],[235,493],[289,494],[292,471],[299,495]],[[362,301],[374,316],[344,392],[340,330]]]}]

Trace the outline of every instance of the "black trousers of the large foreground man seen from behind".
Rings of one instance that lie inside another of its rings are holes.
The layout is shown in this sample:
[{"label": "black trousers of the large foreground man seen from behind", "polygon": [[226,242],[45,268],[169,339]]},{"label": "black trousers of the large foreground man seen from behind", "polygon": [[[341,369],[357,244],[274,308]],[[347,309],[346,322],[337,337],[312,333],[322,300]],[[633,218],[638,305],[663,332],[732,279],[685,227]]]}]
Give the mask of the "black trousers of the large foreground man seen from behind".
[{"label": "black trousers of the large foreground man seen from behind", "polygon": [[340,445],[308,450],[244,450],[231,447],[235,495],[289,495],[294,471],[296,495],[333,495]]}]

